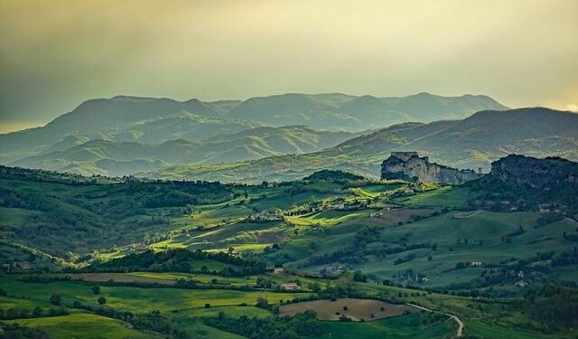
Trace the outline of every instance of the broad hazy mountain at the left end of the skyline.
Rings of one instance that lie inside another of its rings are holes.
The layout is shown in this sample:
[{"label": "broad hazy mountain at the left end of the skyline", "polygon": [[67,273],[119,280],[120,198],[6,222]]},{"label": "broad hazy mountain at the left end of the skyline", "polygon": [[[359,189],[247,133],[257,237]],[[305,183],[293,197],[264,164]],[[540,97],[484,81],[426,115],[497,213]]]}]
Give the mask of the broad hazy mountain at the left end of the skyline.
[{"label": "broad hazy mountain at the left end of the skyline", "polygon": [[135,98],[119,96],[83,102],[44,127],[0,135],[0,161],[49,152],[70,137],[116,141],[163,142],[179,137],[191,140],[235,133],[263,126],[222,116],[230,103],[197,99]]}]

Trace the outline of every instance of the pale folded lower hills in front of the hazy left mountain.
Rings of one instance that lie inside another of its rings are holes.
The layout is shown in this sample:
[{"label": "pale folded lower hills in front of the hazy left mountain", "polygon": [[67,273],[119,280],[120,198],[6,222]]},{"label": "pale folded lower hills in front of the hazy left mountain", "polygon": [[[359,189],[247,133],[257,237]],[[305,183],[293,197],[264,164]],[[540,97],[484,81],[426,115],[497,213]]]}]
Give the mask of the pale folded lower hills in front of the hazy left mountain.
[{"label": "pale folded lower hills in front of the hazy left mountain", "polygon": [[[70,148],[28,156],[11,165],[122,176],[155,171],[169,165],[219,164],[309,153],[335,146],[354,136],[356,134],[293,126],[258,127],[219,134],[203,141],[176,139],[161,144],[93,139]],[[78,137],[67,137],[66,143],[75,145],[78,141]],[[61,142],[59,148],[63,148],[63,144],[65,142]]]}]

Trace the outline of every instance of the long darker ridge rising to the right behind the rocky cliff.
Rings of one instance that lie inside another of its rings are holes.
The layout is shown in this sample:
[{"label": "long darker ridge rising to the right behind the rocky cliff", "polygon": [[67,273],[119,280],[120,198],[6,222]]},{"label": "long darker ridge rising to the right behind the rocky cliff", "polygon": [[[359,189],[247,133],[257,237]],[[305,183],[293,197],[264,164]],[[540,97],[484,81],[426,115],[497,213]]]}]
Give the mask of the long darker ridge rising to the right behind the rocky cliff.
[{"label": "long darker ridge rising to the right behind the rocky cliff", "polygon": [[440,164],[486,171],[491,161],[512,153],[578,160],[578,114],[549,108],[482,110],[461,120],[398,124],[310,154],[225,165],[172,166],[143,174],[259,182],[301,178],[331,168],[378,177],[379,164],[392,151],[418,151]]}]

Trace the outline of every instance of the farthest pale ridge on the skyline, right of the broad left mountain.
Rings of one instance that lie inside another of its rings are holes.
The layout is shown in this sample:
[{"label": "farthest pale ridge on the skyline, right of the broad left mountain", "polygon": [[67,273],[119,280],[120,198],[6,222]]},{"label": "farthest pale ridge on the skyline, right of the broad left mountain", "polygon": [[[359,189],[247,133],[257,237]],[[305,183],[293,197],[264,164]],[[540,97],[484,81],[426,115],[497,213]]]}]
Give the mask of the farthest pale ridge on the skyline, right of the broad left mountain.
[{"label": "farthest pale ridge on the skyline, right of the broad left mountain", "polygon": [[284,94],[251,98],[228,112],[231,118],[273,126],[303,124],[331,129],[364,130],[406,121],[465,118],[480,109],[507,109],[486,96],[442,97],[419,93],[401,98],[345,94]]}]

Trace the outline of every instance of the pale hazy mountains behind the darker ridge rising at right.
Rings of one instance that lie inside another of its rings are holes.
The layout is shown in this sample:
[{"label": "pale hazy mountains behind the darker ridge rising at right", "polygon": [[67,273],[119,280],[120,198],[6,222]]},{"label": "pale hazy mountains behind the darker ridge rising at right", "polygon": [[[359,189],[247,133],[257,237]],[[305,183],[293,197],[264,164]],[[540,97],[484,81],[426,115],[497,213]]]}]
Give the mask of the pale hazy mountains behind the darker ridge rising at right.
[{"label": "pale hazy mountains behind the darker ridge rising at right", "polygon": [[0,163],[122,175],[247,161],[320,151],[361,131],[463,118],[484,108],[506,107],[485,96],[428,93],[403,98],[284,94],[213,102],[117,96],[85,101],[45,127],[0,135]]}]

